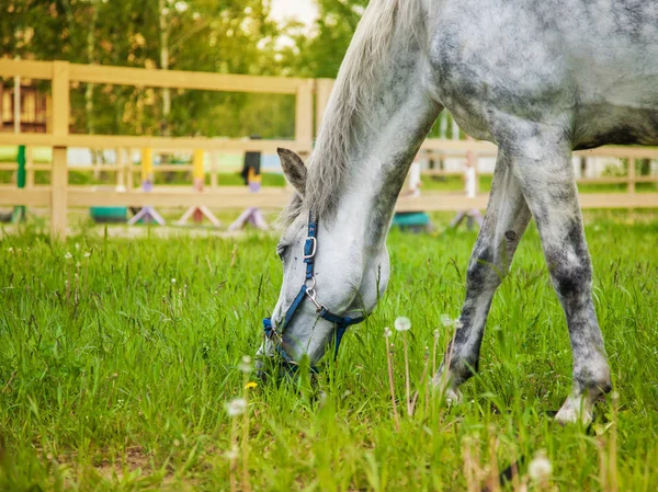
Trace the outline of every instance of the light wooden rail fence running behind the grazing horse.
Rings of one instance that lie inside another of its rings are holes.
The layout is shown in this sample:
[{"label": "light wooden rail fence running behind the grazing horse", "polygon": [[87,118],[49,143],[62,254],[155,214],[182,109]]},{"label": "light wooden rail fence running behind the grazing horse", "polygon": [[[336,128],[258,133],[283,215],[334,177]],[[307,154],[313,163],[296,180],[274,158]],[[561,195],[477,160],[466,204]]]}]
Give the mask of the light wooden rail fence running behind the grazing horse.
[{"label": "light wooden rail fence running behind the grazing horse", "polygon": [[[115,168],[124,173],[127,193],[98,192],[91,187],[71,186],[68,183],[67,149],[83,147],[91,149],[115,149],[117,156],[131,155],[132,150],[152,148],[156,152],[192,151],[202,149],[211,155],[211,162],[216,162],[219,153],[245,151],[274,152],[277,147],[286,147],[307,157],[313,150],[314,134],[321,122],[333,81],[294,78],[251,77],[218,75],[192,71],[155,70],[139,68],[120,68],[94,65],[77,65],[66,61],[19,61],[0,59],[0,77],[19,76],[25,79],[49,80],[52,82],[52,108],[48,114],[46,134],[10,134],[0,133],[0,146],[27,146],[27,183],[26,188],[16,190],[0,186],[0,205],[27,205],[50,208],[50,230],[56,237],[65,237],[67,228],[67,209],[69,207],[90,206],[168,206],[189,207],[207,206],[211,208],[241,208],[258,206],[279,208],[290,197],[286,188],[263,188],[259,194],[250,194],[245,187],[217,187],[216,173],[212,173],[211,188],[204,193],[188,190],[156,188],[151,193],[135,191],[132,182],[135,171],[129,160],[121,160]],[[133,137],[110,135],[73,135],[69,133],[70,84],[103,83],[134,87],[172,88],[189,90],[211,90],[230,92],[256,92],[292,94],[296,96],[295,138],[294,140],[242,140],[217,138],[166,138]],[[49,147],[53,149],[52,165],[34,164],[30,149]],[[423,149],[444,157],[463,158],[467,150],[479,157],[496,155],[496,146],[483,141],[460,141],[428,139]],[[638,147],[603,147],[595,150],[578,152],[582,156],[658,159],[658,149]],[[13,168],[12,168],[13,165]],[[14,169],[15,164],[0,164],[1,169]],[[167,167],[156,167],[164,170]],[[86,168],[90,169],[90,168]],[[103,167],[103,170],[111,168]],[[180,167],[175,167],[180,170]],[[50,172],[50,185],[37,186],[34,183],[35,170]],[[167,168],[167,170],[171,170]],[[593,180],[581,180],[581,182]],[[635,184],[640,182],[658,182],[658,176],[636,176],[635,167],[628,165],[628,175],[593,181],[595,183],[627,183],[628,193],[583,194],[583,207],[658,207],[658,193],[635,193]],[[405,210],[455,210],[463,208],[486,207],[487,196],[478,196],[475,201],[462,194],[423,193],[420,198],[400,198],[398,208]]]}]

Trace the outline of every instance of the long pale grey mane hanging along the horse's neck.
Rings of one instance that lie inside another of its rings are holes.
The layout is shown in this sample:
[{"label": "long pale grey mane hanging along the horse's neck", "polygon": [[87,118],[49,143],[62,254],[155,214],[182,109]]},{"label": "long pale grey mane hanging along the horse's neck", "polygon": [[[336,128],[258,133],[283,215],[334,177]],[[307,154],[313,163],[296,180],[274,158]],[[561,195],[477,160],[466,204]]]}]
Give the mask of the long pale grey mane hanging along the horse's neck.
[{"label": "long pale grey mane hanging along the horse's neck", "polygon": [[282,211],[281,221],[292,224],[302,209],[313,209],[315,217],[333,216],[349,152],[363,122],[363,110],[376,95],[373,88],[392,56],[396,32],[419,35],[415,26],[423,0],[371,0],[341,64],[329,98],[315,150],[308,160],[304,197],[295,195]]}]

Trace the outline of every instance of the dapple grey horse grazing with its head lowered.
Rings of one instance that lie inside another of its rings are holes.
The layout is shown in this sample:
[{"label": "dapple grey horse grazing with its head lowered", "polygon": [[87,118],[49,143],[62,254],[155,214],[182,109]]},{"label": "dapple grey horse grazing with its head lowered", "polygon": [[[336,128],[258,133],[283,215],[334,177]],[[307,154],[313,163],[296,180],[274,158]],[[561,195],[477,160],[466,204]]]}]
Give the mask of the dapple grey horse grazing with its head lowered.
[{"label": "dapple grey horse grazing with its head lowered", "polygon": [[447,381],[441,389],[454,400],[477,369],[494,293],[532,216],[574,354],[572,390],[556,419],[589,421],[611,380],[571,151],[658,145],[654,1],[371,0],[308,171],[280,151],[296,195],[277,248],[283,286],[259,352],[315,363],[337,325],[374,309],[389,275],[396,198],[443,108],[499,152],[462,328],[434,381]]}]

